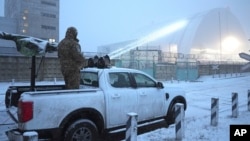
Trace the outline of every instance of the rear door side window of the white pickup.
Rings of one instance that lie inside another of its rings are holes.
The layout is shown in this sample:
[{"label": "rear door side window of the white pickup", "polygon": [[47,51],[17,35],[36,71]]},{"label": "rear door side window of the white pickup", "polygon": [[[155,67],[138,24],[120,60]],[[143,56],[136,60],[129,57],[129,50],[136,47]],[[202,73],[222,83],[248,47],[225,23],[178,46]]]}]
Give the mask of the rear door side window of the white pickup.
[{"label": "rear door side window of the white pickup", "polygon": [[131,87],[129,74],[126,72],[109,73],[109,82],[115,88]]}]

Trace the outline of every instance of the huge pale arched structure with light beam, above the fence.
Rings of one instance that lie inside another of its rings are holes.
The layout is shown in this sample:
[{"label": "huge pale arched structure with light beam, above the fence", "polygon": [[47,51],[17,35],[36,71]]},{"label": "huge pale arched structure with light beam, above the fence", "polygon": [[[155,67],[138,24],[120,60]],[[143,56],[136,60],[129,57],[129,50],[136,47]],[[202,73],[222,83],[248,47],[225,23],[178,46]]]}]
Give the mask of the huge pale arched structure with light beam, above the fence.
[{"label": "huge pale arched structure with light beam, above the fence", "polygon": [[98,52],[119,58],[143,46],[158,46],[162,52],[206,54],[205,59],[216,61],[239,60],[238,53],[249,50],[248,38],[237,17],[229,8],[216,8],[165,23],[140,39],[100,46]]}]

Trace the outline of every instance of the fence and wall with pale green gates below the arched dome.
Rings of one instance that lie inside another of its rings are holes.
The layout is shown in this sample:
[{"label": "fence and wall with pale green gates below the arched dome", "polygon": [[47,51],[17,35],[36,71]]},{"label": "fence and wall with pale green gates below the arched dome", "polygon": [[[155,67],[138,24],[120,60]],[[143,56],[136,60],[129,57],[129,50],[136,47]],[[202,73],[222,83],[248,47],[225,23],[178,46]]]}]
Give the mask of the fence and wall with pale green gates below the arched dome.
[{"label": "fence and wall with pale green gates below the arched dome", "polygon": [[232,75],[241,73],[245,63],[238,54],[181,54],[160,50],[131,50],[115,60],[118,67],[139,69],[160,80],[196,80],[200,75]]}]

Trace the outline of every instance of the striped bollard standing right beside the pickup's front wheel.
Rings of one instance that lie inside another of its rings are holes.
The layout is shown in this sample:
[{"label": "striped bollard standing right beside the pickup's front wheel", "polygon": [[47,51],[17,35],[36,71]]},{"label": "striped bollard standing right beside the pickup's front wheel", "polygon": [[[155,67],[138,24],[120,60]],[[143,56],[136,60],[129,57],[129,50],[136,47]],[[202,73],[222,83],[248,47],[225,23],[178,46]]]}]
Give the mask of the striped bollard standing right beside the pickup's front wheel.
[{"label": "striped bollard standing right beside the pickup's front wheel", "polygon": [[176,140],[182,140],[184,137],[184,105],[175,104],[175,133]]}]

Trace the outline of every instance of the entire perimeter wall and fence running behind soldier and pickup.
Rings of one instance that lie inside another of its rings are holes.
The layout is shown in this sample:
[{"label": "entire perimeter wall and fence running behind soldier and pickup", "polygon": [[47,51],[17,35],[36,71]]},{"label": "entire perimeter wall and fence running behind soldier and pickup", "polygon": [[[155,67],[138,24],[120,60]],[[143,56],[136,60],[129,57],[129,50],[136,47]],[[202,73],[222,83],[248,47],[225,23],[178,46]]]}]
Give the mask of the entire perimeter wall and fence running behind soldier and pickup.
[{"label": "entire perimeter wall and fence running behind soldier and pickup", "polygon": [[[84,53],[86,58],[95,55],[104,56],[106,54]],[[216,59],[211,59],[211,57]],[[46,57],[42,64],[40,61],[41,57],[37,57],[36,66],[40,65],[40,69],[36,80],[63,79],[57,57]],[[159,80],[195,80],[200,75],[232,75],[233,73],[241,73],[240,68],[246,63],[237,55],[232,57],[232,55],[218,54],[180,54],[162,52],[161,50],[131,50],[112,62],[117,67],[142,70]],[[0,64],[0,81],[30,80],[30,57],[0,55]],[[246,71],[249,72],[250,69]]]}]

